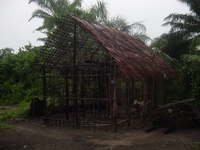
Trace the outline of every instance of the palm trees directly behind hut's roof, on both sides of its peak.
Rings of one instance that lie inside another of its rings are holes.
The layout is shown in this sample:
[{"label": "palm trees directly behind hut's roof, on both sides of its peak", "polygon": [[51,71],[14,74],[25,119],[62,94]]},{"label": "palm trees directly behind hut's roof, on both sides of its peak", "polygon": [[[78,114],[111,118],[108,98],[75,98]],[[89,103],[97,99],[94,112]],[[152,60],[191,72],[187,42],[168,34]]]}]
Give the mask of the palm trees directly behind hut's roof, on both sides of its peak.
[{"label": "palm trees directly behind hut's roof, on both sides of its peak", "polygon": [[[40,9],[32,13],[33,18],[43,19],[43,24],[37,31],[45,33],[47,36],[57,27],[61,22],[62,15],[65,13],[72,13],[79,17],[88,19],[93,22],[107,25],[115,29],[121,30],[127,34],[134,35],[144,42],[150,38],[145,34],[146,28],[139,22],[128,24],[126,19],[121,16],[109,18],[108,9],[105,2],[97,2],[88,9],[82,8],[82,0],[29,0],[29,3],[36,3]],[[46,40],[39,39],[39,40]]]}]

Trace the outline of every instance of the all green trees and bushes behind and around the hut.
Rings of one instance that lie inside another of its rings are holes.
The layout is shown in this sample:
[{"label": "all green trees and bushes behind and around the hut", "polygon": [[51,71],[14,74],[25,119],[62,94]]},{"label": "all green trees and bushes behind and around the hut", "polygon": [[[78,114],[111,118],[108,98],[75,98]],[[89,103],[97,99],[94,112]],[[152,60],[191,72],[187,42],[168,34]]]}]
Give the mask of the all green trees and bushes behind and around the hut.
[{"label": "all green trees and bushes behind and around the hut", "polygon": [[[198,0],[180,1],[190,7],[191,14],[170,14],[164,24],[171,26],[170,32],[151,43],[151,47],[177,72],[176,80],[165,78],[166,103],[200,99],[200,4]],[[42,26],[36,30],[44,32],[47,38],[61,21],[63,13],[67,12],[135,35],[143,41],[149,39],[141,23],[129,24],[123,17],[109,17],[105,2],[97,2],[87,9],[82,7],[82,0],[29,0],[29,3],[39,6],[30,20],[43,19]],[[0,105],[19,105],[19,109],[1,112],[0,120],[23,115],[30,99],[41,96],[41,80],[34,78],[39,76],[39,71],[32,70],[40,48],[29,44],[17,53],[11,48],[0,49]]]}]

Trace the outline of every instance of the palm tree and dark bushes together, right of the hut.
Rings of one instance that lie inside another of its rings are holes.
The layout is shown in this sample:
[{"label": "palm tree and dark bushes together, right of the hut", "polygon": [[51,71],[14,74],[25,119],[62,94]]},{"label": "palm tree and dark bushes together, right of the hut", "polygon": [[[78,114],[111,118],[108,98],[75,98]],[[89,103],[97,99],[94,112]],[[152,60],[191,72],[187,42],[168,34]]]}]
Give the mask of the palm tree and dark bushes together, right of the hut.
[{"label": "palm tree and dark bushes together, right of the hut", "polygon": [[[199,0],[179,0],[190,14],[172,13],[163,25],[171,26],[169,33],[155,38],[151,47],[174,68],[176,80],[166,79],[165,100],[200,99],[200,3]],[[198,102],[200,105],[200,102]]]}]

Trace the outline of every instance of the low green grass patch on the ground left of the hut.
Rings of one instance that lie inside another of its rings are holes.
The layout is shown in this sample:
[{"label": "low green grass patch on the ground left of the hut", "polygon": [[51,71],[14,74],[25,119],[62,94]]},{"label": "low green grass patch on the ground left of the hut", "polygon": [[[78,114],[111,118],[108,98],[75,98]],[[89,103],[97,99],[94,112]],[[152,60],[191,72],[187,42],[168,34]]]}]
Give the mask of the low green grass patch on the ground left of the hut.
[{"label": "low green grass patch on the ground left of the hut", "polygon": [[13,120],[27,114],[30,103],[21,102],[15,110],[5,110],[0,112],[0,121]]}]

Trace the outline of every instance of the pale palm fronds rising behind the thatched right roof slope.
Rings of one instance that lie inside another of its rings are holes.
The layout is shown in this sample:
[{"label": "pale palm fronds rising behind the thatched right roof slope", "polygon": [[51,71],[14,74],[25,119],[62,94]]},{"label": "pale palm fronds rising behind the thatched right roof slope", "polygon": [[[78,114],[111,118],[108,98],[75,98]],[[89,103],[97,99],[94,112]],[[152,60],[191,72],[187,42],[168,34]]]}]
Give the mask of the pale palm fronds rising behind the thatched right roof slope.
[{"label": "pale palm fronds rising behind the thatched right roof slope", "polygon": [[110,18],[108,16],[109,12],[105,2],[97,2],[97,4],[92,5],[87,12],[90,15],[89,18],[91,21],[95,21],[108,27],[115,28],[126,34],[135,36],[145,43],[150,40],[145,33],[146,27],[141,22],[129,24],[124,17],[119,15]]}]

